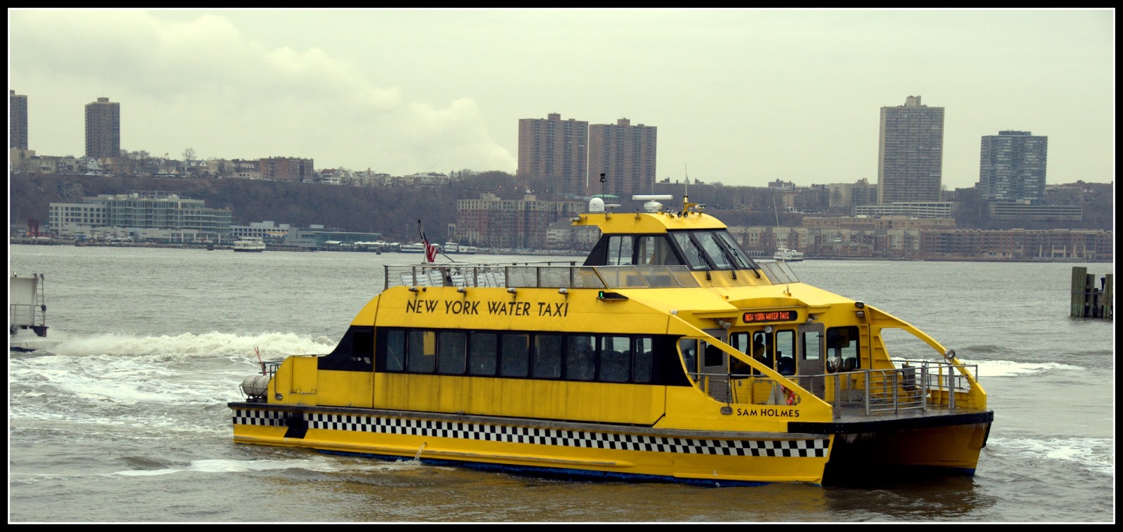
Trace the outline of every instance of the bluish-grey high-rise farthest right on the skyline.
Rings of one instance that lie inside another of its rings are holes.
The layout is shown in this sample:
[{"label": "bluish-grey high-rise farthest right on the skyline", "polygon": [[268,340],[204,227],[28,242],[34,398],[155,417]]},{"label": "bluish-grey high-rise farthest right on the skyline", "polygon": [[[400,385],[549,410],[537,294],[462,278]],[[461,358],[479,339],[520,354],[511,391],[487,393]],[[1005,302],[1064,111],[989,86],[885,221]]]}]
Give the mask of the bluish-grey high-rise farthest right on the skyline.
[{"label": "bluish-grey high-rise farthest right on the skyline", "polygon": [[1049,137],[998,131],[983,137],[979,193],[984,200],[1038,204],[1046,194]]}]

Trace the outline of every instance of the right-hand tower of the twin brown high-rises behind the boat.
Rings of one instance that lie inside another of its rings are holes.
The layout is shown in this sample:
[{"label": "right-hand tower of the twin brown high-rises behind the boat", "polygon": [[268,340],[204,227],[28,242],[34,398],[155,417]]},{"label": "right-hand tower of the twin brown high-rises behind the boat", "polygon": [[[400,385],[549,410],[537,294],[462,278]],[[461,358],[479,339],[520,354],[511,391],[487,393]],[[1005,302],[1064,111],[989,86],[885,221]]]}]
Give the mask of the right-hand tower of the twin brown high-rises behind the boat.
[{"label": "right-hand tower of the twin brown high-rises behind the boat", "polygon": [[655,185],[656,129],[642,123],[632,126],[627,118],[615,125],[590,126],[588,193],[623,199],[650,194]]}]

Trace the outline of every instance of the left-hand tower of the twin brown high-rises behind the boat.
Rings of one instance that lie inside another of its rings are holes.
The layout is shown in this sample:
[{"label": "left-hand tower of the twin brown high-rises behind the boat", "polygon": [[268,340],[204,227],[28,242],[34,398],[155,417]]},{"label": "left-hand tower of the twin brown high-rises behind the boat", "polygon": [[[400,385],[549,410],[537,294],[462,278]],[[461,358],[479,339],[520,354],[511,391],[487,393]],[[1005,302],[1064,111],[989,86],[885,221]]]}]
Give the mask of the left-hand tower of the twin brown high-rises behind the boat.
[{"label": "left-hand tower of the twin brown high-rises behind the boat", "polygon": [[585,194],[587,165],[587,121],[562,120],[556,112],[547,114],[545,120],[519,120],[517,176],[545,178],[554,193],[579,196]]}]

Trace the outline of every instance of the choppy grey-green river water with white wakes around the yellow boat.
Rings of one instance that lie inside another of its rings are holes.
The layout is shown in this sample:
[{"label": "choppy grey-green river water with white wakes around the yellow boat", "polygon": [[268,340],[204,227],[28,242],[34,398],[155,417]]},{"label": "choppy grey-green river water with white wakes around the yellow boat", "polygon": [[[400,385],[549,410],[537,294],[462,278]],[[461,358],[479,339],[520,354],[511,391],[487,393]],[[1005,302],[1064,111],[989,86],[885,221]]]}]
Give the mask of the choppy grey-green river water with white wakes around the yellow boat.
[{"label": "choppy grey-green river water with white wakes around the yellow boat", "polygon": [[[802,281],[979,365],[973,478],[879,486],[567,483],[236,446],[266,359],[327,352],[396,254],[11,246],[46,275],[51,351],[9,354],[9,522],[995,522],[1115,520],[1114,328],[1069,313],[1071,265],[807,260]],[[530,257],[476,256],[527,260]],[[1111,273],[1113,265],[1087,265]]]}]

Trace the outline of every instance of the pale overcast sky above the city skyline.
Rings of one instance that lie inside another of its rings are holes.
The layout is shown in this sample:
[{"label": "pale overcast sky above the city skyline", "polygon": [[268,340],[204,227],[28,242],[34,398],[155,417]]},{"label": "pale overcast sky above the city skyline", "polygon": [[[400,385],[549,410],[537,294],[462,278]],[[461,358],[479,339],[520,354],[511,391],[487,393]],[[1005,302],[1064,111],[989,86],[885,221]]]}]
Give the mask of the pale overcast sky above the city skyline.
[{"label": "pale overcast sky above the city skyline", "polygon": [[944,108],[943,185],[979,143],[1049,137],[1050,184],[1115,171],[1114,10],[9,9],[28,144],[513,173],[519,119],[658,128],[658,178],[877,182],[879,110]]}]

